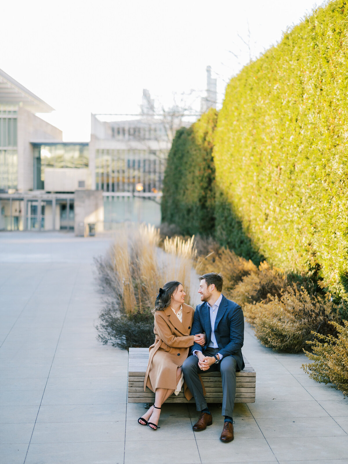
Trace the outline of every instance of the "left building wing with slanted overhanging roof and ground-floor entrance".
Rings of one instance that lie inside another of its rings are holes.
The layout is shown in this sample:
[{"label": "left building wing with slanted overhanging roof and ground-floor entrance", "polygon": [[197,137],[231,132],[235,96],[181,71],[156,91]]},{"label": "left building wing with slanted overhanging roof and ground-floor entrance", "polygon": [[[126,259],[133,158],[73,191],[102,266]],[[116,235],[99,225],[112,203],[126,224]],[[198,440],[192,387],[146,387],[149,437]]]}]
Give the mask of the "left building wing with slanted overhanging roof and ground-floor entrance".
[{"label": "left building wing with slanted overhanging roof and ground-floor entrance", "polygon": [[88,143],[63,142],[35,114],[52,111],[0,70],[0,230],[75,228],[75,192],[91,188]]}]

